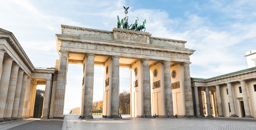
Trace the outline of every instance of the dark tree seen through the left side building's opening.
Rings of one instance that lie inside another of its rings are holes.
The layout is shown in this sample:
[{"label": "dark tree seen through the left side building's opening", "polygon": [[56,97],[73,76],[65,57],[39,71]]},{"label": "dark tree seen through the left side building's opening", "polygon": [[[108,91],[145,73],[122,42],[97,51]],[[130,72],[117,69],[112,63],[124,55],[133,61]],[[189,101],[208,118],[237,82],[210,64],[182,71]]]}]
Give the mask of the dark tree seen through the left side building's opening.
[{"label": "dark tree seen through the left side building's opening", "polygon": [[44,90],[36,90],[34,118],[41,118],[43,112],[44,103]]}]

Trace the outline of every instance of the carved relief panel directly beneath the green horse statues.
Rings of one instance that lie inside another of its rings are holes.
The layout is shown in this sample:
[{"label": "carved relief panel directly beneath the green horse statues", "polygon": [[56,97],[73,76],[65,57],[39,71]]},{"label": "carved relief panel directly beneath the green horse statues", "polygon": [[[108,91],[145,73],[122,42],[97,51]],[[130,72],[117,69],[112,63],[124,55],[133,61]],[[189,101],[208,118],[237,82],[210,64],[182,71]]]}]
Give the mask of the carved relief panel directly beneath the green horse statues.
[{"label": "carved relief panel directly beneath the green horse statues", "polygon": [[145,43],[147,42],[147,37],[136,36],[136,35],[127,35],[127,34],[117,34],[117,39],[139,41],[139,42],[145,42]]}]

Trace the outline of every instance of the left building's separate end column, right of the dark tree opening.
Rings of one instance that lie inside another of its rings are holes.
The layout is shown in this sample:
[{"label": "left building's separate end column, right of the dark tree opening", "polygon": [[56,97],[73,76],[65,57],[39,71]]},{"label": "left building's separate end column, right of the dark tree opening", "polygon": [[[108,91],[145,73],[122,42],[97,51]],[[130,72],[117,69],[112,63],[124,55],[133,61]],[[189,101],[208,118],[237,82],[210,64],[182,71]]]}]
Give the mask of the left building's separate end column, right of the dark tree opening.
[{"label": "left building's separate end column, right of the dark tree opening", "polygon": [[42,113],[41,119],[48,118],[50,89],[51,89],[51,79],[46,79],[45,91],[44,91],[43,113]]}]

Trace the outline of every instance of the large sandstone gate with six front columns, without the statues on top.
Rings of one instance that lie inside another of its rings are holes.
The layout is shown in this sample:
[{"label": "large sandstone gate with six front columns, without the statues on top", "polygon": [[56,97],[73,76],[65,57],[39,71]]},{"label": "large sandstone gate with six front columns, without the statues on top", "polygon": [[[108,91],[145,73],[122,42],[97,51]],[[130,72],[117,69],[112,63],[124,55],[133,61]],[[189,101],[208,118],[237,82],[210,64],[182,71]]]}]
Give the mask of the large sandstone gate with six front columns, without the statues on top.
[{"label": "large sandstone gate with six front columns, without the statues on top", "polygon": [[103,116],[119,118],[119,67],[131,70],[131,117],[194,116],[189,65],[195,50],[185,48],[186,41],[151,35],[61,25],[49,117],[63,118],[68,64],[83,65],[80,117],[84,119],[92,118],[94,65],[105,68]]}]

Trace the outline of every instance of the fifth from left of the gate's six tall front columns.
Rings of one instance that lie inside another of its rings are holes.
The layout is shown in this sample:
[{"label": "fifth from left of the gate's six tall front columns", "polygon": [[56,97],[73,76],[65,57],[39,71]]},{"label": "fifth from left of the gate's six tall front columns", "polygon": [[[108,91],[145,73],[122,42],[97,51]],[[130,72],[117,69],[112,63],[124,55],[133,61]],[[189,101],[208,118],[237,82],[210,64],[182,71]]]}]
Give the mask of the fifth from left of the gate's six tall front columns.
[{"label": "fifth from left of the gate's six tall front columns", "polygon": [[174,117],[173,115],[173,98],[172,98],[172,79],[170,61],[164,61],[164,90],[165,90],[165,109],[166,115]]}]

